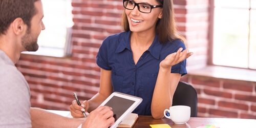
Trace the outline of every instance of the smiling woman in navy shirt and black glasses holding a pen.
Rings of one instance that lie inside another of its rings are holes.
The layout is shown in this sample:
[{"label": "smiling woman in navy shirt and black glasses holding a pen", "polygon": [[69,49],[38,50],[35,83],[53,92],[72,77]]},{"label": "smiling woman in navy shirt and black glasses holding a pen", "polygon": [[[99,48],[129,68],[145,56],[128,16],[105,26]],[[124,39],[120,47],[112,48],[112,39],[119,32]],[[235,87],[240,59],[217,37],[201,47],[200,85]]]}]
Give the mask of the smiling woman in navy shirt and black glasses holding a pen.
[{"label": "smiling woman in navy shirt and black glasses holding a pen", "polygon": [[172,97],[180,77],[186,74],[182,37],[176,31],[172,0],[124,0],[125,32],[104,39],[98,55],[101,68],[99,92],[83,107],[70,105],[73,117],[91,112],[112,92],[143,99],[133,113],[163,118],[172,106]]}]

